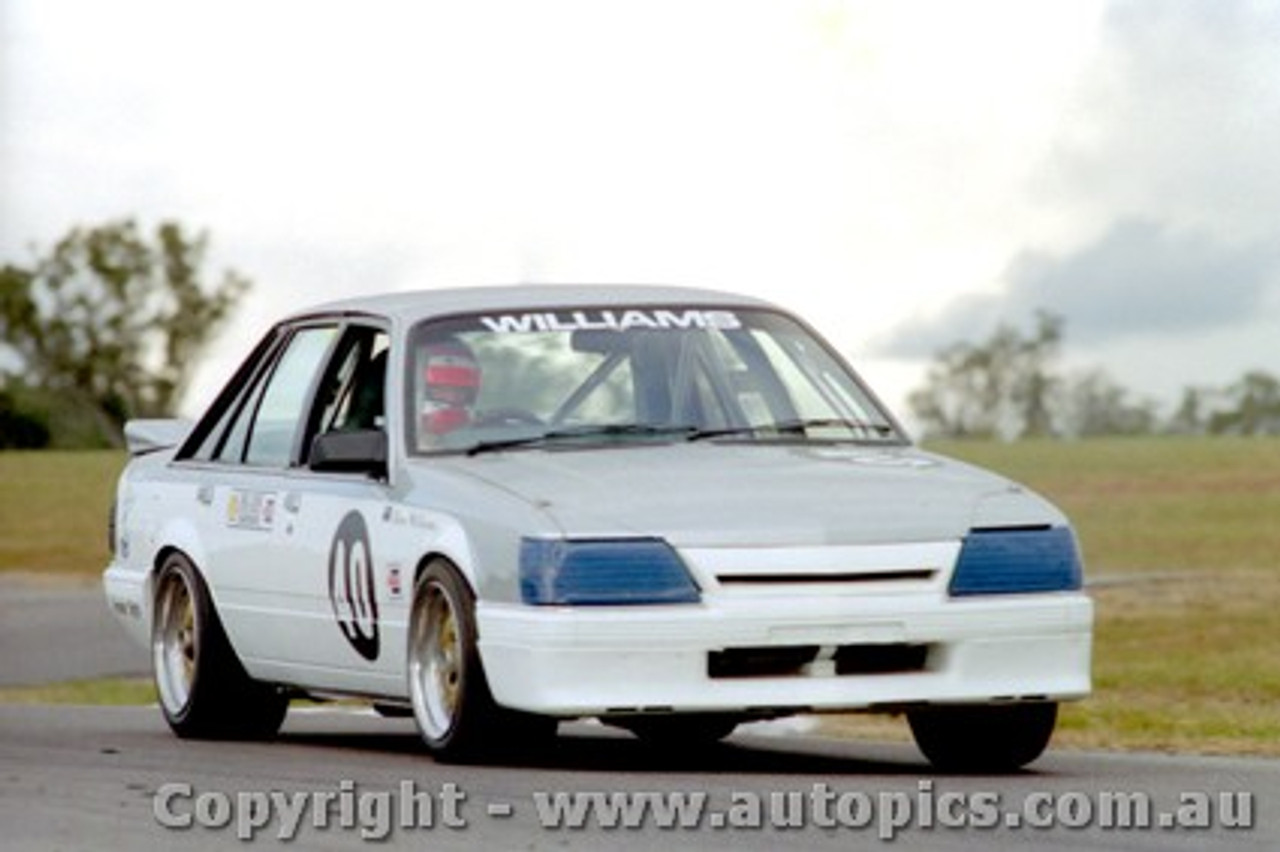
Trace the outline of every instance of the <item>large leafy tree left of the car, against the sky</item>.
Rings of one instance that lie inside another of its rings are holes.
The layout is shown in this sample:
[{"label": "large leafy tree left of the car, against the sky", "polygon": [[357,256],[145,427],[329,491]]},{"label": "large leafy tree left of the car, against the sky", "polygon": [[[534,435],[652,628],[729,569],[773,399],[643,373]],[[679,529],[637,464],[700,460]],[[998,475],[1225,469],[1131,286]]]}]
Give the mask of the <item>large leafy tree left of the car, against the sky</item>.
[{"label": "large leafy tree left of the car, against the sky", "polygon": [[0,267],[0,331],[20,381],[73,400],[115,444],[125,420],[172,414],[250,287],[229,270],[206,284],[206,248],[207,234],[173,221],[148,237],[119,220],[73,229],[29,267]]}]

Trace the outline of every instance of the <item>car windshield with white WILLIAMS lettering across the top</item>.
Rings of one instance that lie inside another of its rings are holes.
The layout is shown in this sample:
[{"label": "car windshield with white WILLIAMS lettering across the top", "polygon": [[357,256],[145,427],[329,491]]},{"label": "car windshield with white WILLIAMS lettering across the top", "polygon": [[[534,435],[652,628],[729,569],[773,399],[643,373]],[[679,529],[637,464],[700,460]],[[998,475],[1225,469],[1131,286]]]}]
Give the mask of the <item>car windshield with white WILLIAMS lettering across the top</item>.
[{"label": "car windshield with white WILLIAMS lettering across the top", "polygon": [[640,441],[905,439],[822,342],[765,310],[513,311],[420,324],[416,453]]}]

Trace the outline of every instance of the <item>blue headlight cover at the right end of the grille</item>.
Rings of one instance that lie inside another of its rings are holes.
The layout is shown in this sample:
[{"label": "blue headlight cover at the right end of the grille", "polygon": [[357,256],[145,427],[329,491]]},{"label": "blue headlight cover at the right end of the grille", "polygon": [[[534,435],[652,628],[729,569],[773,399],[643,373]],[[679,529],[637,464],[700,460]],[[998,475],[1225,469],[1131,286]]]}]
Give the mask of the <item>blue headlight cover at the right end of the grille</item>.
[{"label": "blue headlight cover at the right end of the grille", "polygon": [[1082,582],[1070,527],[970,530],[948,591],[954,597],[1075,591]]}]

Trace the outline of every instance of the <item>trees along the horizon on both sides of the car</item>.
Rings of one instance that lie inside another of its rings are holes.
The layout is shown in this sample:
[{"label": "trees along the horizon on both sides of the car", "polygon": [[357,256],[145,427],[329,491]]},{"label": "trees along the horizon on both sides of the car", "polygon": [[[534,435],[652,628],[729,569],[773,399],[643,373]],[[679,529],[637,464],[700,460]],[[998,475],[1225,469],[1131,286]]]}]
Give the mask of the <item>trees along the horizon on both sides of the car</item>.
[{"label": "trees along the horizon on both sides of the car", "polygon": [[[0,266],[0,449],[119,446],[132,417],[172,416],[198,356],[250,289],[206,279],[205,233],[166,221],[76,228],[29,264]],[[1176,407],[1105,370],[1066,374],[1064,320],[998,325],[940,351],[908,404],[925,438],[1280,434],[1280,379],[1254,370],[1188,386]]]}]

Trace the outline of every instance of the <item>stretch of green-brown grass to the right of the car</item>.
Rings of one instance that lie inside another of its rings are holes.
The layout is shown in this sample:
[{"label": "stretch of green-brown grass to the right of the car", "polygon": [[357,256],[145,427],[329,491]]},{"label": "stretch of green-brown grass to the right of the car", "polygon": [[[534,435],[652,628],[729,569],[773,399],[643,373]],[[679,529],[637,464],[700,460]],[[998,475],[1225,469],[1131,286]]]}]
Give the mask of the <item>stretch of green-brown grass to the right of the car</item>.
[{"label": "stretch of green-brown grass to the right of the car", "polygon": [[1076,527],[1094,695],[1064,707],[1056,742],[1280,755],[1280,440],[931,449],[1029,485]]}]

